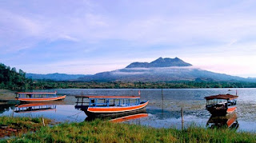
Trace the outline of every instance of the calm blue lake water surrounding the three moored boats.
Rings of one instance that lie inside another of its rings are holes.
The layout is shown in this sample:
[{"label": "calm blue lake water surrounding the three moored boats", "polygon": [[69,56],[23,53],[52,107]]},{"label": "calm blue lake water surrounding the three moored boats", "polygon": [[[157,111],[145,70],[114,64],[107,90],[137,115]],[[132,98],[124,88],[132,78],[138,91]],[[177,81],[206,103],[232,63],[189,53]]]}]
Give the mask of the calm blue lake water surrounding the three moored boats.
[{"label": "calm blue lake water surrounding the three moored boats", "polygon": [[[27,116],[27,117],[48,117],[54,121],[72,122],[85,121],[86,114],[74,109],[75,95],[138,95],[138,89],[52,89],[58,94],[66,94],[65,101],[56,101],[50,105],[33,107],[33,112],[24,112],[22,108],[10,106],[2,108],[0,115]],[[146,107],[147,117],[125,121],[130,124],[153,126],[156,128],[175,127],[182,128],[181,107],[184,109],[184,126],[198,125],[206,127],[210,119],[210,113],[205,109],[204,97],[219,93],[235,94],[236,89],[140,89],[142,101],[150,101]],[[237,89],[238,108],[233,116],[226,117],[227,120],[234,120],[238,124],[238,131],[256,132],[256,89]],[[39,91],[39,90],[37,90]],[[42,90],[40,90],[42,91]],[[162,100],[163,99],[163,100]],[[31,109],[33,109],[31,108]],[[0,109],[1,110],[1,109]],[[234,118],[235,117],[235,118]],[[219,123],[220,124],[220,123]]]}]

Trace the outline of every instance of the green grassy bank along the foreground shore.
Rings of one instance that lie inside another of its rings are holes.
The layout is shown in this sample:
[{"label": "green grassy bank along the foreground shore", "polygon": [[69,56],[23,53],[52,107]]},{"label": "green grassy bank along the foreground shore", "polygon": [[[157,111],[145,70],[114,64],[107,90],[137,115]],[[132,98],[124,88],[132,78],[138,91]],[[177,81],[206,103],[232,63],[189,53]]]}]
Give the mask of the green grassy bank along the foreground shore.
[{"label": "green grassy bank along the foreground shore", "polygon": [[[2,118],[2,117],[0,117]],[[14,120],[14,119],[13,119]],[[24,119],[23,119],[24,120]],[[39,121],[38,119],[30,119]],[[254,133],[237,133],[229,129],[154,129],[95,120],[41,126],[35,133],[4,142],[256,142]]]}]

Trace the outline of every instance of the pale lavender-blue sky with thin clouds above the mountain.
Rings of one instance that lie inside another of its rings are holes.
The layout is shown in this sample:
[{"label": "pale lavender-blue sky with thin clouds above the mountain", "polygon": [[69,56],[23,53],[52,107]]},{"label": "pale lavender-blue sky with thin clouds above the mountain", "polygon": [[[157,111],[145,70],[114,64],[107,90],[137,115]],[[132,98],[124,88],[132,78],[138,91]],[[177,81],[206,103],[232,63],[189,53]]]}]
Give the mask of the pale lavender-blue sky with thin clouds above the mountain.
[{"label": "pale lavender-blue sky with thin clouds above the mountain", "polygon": [[94,74],[181,58],[256,77],[256,1],[0,0],[0,62],[26,73]]}]

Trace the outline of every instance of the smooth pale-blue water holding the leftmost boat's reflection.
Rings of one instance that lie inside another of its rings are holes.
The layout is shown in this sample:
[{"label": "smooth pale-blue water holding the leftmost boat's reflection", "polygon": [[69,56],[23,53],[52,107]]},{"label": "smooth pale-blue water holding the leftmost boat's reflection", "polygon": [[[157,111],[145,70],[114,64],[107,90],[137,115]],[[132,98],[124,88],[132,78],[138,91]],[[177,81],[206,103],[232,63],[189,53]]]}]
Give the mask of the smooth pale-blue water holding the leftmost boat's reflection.
[{"label": "smooth pale-blue water holding the leftmost boat's reflection", "polygon": [[0,116],[46,117],[55,122],[81,122],[86,118],[85,113],[74,109],[74,105],[58,105],[54,104],[54,102],[51,104],[38,103],[38,105],[25,104],[5,106]]}]

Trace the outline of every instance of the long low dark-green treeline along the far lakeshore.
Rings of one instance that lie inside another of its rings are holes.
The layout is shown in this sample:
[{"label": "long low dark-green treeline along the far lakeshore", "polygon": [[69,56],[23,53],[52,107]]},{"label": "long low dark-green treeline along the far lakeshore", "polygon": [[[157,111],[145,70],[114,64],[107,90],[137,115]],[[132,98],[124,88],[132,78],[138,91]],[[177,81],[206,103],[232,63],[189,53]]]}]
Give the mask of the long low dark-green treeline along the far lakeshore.
[{"label": "long low dark-green treeline along the far lakeshore", "polygon": [[186,89],[186,88],[256,88],[254,82],[168,81],[168,82],[74,82],[34,81],[35,89]]}]

